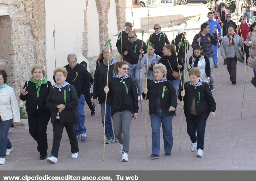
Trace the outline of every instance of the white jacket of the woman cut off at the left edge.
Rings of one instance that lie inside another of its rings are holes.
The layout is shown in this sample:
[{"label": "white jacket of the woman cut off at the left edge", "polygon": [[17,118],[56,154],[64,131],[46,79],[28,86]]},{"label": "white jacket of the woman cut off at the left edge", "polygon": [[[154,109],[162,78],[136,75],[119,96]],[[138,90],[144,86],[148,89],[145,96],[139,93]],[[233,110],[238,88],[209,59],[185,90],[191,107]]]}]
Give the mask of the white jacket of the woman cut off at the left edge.
[{"label": "white jacket of the woman cut off at the left edge", "polygon": [[8,86],[0,89],[0,115],[2,121],[20,122],[20,110],[14,90]]}]

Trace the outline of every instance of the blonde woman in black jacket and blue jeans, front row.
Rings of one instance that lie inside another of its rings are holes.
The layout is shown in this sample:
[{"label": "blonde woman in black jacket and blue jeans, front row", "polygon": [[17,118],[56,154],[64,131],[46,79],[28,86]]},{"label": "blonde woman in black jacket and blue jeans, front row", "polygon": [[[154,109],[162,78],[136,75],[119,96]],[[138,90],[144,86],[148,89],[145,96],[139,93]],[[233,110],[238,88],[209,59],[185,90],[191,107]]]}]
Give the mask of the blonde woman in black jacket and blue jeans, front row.
[{"label": "blonde woman in black jacket and blue jeans, front row", "polygon": [[152,128],[152,154],[150,158],[159,158],[160,126],[162,123],[165,156],[171,155],[172,116],[177,106],[176,91],[170,80],[166,79],[166,67],[156,64],[153,67],[154,78],[144,89],[142,97],[149,99],[149,115]]}]

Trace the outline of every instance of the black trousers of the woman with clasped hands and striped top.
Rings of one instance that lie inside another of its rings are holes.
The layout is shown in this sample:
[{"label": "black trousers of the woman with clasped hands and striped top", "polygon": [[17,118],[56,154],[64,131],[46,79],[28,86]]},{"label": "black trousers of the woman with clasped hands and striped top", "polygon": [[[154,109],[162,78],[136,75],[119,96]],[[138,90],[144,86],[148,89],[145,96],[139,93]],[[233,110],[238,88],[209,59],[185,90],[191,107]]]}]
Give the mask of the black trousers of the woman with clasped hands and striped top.
[{"label": "black trousers of the woman with clasped hands and striped top", "polygon": [[53,128],[53,141],[52,141],[52,152],[51,155],[58,158],[59,148],[60,148],[60,140],[62,138],[62,133],[64,127],[68,133],[68,138],[71,146],[71,153],[76,153],[79,151],[78,143],[76,140],[75,134],[75,122],[60,122],[59,119],[56,119],[52,124]]}]

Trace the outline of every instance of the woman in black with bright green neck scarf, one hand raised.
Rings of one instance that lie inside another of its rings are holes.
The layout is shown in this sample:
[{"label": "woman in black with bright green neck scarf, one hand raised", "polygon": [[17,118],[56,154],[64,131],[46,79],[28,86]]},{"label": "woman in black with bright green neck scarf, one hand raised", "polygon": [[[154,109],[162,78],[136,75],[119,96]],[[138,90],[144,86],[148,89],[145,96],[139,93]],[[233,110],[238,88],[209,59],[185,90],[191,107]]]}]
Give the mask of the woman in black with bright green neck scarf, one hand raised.
[{"label": "woman in black with bright green neck scarf, one hand raised", "polygon": [[45,102],[52,84],[44,77],[46,70],[41,64],[32,67],[31,74],[33,76],[25,82],[20,93],[20,100],[26,101],[28,130],[37,142],[37,151],[40,152],[39,159],[44,160],[48,149],[46,130],[51,117]]}]

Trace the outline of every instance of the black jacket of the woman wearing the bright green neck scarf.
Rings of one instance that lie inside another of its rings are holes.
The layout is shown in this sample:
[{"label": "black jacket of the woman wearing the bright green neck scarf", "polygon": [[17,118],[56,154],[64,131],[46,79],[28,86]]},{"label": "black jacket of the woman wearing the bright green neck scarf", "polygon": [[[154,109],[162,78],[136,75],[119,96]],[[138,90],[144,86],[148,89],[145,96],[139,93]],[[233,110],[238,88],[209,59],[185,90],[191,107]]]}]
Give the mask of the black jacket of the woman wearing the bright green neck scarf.
[{"label": "black jacket of the woman wearing the bright green neck scarf", "polygon": [[[40,114],[45,111],[49,111],[48,107],[45,104],[48,92],[52,87],[52,83],[47,81],[46,84],[42,84],[39,92],[39,97],[36,97],[36,84],[31,81],[26,81],[23,89],[26,87],[28,94],[23,96],[22,92],[20,93],[20,100],[26,100],[26,111],[29,115]],[[38,106],[38,107],[37,107]]]}]

